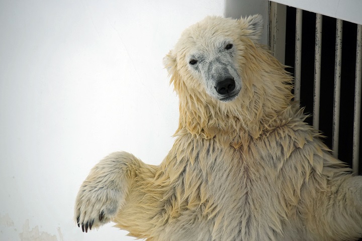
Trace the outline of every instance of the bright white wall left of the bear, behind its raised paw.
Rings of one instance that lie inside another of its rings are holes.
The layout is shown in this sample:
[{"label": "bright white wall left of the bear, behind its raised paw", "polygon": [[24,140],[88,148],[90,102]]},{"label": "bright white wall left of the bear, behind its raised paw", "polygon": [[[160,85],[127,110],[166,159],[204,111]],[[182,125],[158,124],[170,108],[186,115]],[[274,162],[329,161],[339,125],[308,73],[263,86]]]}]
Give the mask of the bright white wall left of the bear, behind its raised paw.
[{"label": "bright white wall left of the bear, behind its raised paw", "polygon": [[0,240],[133,240],[112,224],[83,234],[78,187],[114,151],[161,162],[178,121],[162,57],[224,10],[224,0],[0,1]]}]

